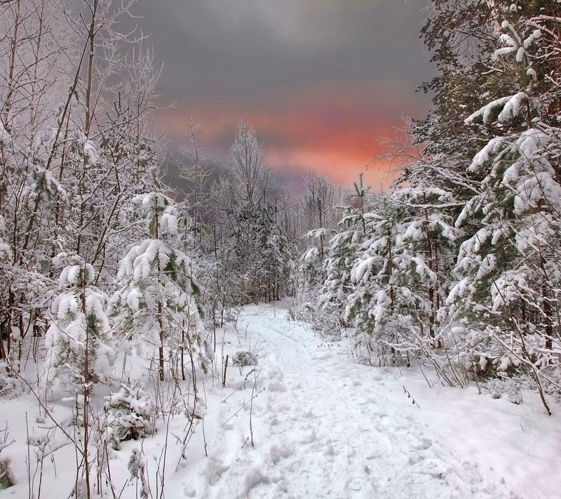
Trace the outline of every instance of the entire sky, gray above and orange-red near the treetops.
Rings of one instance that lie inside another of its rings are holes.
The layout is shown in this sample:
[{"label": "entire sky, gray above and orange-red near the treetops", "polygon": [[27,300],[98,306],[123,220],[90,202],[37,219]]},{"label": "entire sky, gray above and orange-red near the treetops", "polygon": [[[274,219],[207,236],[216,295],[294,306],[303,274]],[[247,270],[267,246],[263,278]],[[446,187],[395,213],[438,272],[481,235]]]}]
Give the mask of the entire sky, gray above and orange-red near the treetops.
[{"label": "entire sky, gray above and orange-red near the treetops", "polygon": [[137,22],[163,63],[156,128],[227,165],[244,117],[266,163],[298,188],[320,172],[373,189],[391,182],[380,144],[422,118],[433,68],[419,39],[426,0],[139,0]]}]

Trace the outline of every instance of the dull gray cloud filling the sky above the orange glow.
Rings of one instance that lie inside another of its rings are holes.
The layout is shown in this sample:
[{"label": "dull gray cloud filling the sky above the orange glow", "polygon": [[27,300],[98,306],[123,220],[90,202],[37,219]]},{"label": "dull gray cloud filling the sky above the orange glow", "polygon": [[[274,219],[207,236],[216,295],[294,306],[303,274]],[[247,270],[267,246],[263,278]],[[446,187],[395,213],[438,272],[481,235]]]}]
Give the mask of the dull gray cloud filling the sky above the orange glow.
[{"label": "dull gray cloud filling the sky above the orange glow", "polygon": [[264,88],[431,76],[424,0],[140,0],[164,93],[250,100]]}]

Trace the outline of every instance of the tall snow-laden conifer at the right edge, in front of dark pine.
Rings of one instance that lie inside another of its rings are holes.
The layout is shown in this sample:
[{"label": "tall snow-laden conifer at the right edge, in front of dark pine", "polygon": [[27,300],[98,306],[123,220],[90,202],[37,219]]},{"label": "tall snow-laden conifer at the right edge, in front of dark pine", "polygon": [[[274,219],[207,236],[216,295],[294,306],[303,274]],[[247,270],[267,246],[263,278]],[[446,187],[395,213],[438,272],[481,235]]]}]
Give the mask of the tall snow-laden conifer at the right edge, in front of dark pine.
[{"label": "tall snow-laden conifer at the right edge, in front of dark pine", "polygon": [[468,167],[483,176],[482,189],[468,201],[457,225],[476,213],[481,222],[461,245],[461,279],[449,302],[461,314],[484,319],[482,327],[498,342],[489,357],[501,370],[527,364],[536,373],[558,363],[553,343],[561,327],[561,246],[556,242],[561,130],[555,119],[548,119],[546,103],[561,93],[543,93],[544,76],[537,66],[543,65],[547,48],[541,29],[516,6],[505,16],[493,69],[510,74],[518,88],[466,118],[475,133],[483,126],[492,128],[494,136]]}]

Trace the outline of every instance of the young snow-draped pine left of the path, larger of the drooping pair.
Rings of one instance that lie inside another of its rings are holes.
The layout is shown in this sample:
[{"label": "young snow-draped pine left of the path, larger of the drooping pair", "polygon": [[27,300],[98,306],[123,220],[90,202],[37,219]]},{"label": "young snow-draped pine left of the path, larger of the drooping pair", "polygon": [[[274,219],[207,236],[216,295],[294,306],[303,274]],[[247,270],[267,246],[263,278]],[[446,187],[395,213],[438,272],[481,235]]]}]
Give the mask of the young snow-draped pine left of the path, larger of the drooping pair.
[{"label": "young snow-draped pine left of the path, larger of the drooping pair", "polygon": [[146,213],[147,239],[133,245],[121,260],[121,287],[111,298],[111,317],[123,340],[156,347],[158,377],[163,380],[167,361],[179,360],[176,367],[183,369],[184,352],[192,362],[208,363],[200,291],[191,258],[175,247],[178,221],[173,202],[158,192],[139,194],[133,202]]}]

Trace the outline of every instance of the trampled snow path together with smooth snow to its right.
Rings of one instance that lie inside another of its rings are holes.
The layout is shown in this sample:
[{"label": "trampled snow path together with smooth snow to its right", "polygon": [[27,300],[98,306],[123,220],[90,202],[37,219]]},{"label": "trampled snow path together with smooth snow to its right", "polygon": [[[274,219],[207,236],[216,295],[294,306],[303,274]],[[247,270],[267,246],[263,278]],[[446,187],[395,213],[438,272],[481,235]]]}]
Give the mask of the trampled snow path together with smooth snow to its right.
[{"label": "trampled snow path together with smooth snow to its right", "polygon": [[475,387],[431,389],[407,368],[353,364],[285,316],[271,305],[241,314],[265,388],[255,448],[241,448],[242,425],[219,436],[234,445],[198,467],[201,497],[561,497],[560,418],[533,394],[515,406]]}]

